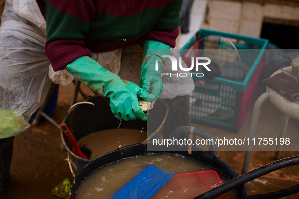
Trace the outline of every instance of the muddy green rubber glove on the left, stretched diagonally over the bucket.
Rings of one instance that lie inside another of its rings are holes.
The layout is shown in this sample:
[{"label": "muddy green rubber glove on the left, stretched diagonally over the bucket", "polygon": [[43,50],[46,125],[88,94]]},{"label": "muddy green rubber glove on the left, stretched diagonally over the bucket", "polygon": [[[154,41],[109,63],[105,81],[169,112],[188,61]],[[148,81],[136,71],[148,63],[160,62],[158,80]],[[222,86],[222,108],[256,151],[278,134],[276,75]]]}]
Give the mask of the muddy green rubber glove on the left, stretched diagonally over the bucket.
[{"label": "muddy green rubber glove on the left, stretched diagonally over the bucket", "polygon": [[147,120],[137,98],[147,100],[147,92],[135,83],[121,79],[88,56],[76,59],[66,69],[100,96],[109,97],[112,113],[119,120]]}]

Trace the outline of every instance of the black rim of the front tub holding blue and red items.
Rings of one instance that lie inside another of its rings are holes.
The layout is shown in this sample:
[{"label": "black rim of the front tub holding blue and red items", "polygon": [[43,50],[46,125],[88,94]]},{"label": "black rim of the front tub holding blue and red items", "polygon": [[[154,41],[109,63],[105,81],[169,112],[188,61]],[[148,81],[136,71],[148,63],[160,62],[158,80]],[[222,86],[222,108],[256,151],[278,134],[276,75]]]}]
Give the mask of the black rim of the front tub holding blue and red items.
[{"label": "black rim of the front tub holding blue and red items", "polygon": [[[184,133],[188,133],[190,131],[191,127],[179,127],[175,130],[177,132],[176,134],[181,134],[183,135]],[[181,131],[181,132],[180,132]],[[194,130],[194,135],[200,136],[205,139],[213,139],[212,135],[209,133],[196,129]],[[225,161],[220,159],[215,151],[215,145],[210,145],[209,146],[209,151],[203,151],[203,150],[193,150],[192,154],[188,154],[188,146],[183,146],[182,151],[148,151],[147,150],[147,145],[151,144],[151,142],[147,143],[139,143],[139,144],[134,144],[130,146],[126,146],[123,148],[119,148],[117,150],[111,151],[109,153],[104,154],[103,156],[100,156],[98,158],[95,158],[92,160],[90,163],[88,163],[86,166],[84,166],[78,174],[75,176],[74,181],[72,182],[72,186],[70,189],[70,199],[75,198],[75,192],[80,185],[81,181],[87,177],[90,173],[93,171],[97,170],[98,168],[105,166],[109,163],[113,163],[117,160],[121,160],[123,158],[129,158],[129,157],[134,157],[137,155],[143,155],[145,153],[151,152],[151,153],[163,153],[163,152],[168,152],[168,153],[176,153],[176,154],[181,154],[186,157],[192,158],[197,162],[200,162],[201,164],[205,164],[209,167],[212,167],[213,170],[223,174],[226,176],[229,180],[235,178],[238,176],[237,172],[229,166]],[[238,198],[239,199],[246,199],[247,194],[246,194],[246,189],[244,185],[241,185],[236,188],[237,193],[238,193]]]}]

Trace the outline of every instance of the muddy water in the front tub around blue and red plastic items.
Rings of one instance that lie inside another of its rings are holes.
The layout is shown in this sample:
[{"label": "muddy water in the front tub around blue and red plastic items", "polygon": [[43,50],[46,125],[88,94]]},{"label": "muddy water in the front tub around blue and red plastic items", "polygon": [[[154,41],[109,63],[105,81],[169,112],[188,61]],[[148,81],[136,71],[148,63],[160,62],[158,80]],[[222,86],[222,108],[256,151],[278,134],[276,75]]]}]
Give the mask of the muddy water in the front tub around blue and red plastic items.
[{"label": "muddy water in the front tub around blue and red plastic items", "polygon": [[[148,165],[154,165],[166,172],[174,172],[176,174],[211,170],[210,167],[182,155],[148,153],[142,156],[122,159],[94,171],[80,183],[75,198],[110,198]],[[218,174],[222,181],[227,181],[224,176],[220,173]],[[163,198],[178,197],[170,194],[168,197]],[[237,192],[232,190],[225,197],[221,198],[238,198],[238,196]]]}]

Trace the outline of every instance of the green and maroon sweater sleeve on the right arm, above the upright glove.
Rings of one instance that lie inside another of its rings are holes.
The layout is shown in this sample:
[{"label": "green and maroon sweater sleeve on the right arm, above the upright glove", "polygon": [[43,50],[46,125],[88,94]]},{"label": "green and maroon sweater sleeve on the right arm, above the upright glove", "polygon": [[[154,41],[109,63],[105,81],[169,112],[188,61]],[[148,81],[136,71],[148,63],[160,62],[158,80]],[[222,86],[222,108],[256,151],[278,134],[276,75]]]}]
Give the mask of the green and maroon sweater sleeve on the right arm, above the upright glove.
[{"label": "green and maroon sweater sleeve on the right arm, above the upright glove", "polygon": [[176,46],[176,38],[179,35],[180,10],[183,0],[170,0],[155,26],[145,36],[144,40],[160,41]]}]

